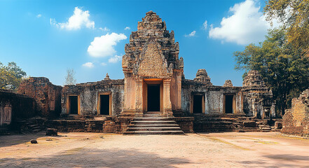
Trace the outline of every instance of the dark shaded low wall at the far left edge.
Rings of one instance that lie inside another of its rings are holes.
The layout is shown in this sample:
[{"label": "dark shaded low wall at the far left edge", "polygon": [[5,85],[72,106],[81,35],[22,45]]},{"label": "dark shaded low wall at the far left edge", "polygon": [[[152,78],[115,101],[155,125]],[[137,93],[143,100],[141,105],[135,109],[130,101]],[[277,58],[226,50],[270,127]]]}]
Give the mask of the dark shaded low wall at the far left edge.
[{"label": "dark shaded low wall at the far left edge", "polygon": [[0,127],[14,123],[17,118],[36,115],[36,102],[30,97],[0,90]]}]

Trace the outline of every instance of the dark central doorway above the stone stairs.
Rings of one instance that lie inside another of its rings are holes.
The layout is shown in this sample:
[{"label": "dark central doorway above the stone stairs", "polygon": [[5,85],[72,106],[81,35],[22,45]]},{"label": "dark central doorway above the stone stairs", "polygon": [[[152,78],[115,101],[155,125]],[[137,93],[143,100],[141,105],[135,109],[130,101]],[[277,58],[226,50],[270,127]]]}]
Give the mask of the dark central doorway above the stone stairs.
[{"label": "dark central doorway above the stone stairs", "polygon": [[147,85],[147,111],[160,111],[160,85]]}]

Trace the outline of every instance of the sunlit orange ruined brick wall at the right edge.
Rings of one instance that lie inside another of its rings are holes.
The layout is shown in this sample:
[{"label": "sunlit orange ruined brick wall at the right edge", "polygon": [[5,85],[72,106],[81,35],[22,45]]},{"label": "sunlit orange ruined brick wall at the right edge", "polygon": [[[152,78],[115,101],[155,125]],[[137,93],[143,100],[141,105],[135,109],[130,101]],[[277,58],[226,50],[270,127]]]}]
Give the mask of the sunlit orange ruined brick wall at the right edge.
[{"label": "sunlit orange ruined brick wall at the right edge", "polygon": [[281,132],[309,137],[309,90],[292,99],[291,109],[282,117]]}]

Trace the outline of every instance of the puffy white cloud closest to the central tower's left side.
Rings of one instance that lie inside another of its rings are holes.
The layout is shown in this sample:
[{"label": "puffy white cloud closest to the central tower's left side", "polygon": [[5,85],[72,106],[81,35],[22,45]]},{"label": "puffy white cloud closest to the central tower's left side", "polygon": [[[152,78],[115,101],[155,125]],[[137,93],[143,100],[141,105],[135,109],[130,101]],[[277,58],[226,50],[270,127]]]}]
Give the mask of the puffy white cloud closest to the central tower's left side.
[{"label": "puffy white cloud closest to the central tower's left side", "polygon": [[105,34],[104,36],[95,37],[88,47],[88,53],[92,57],[108,57],[114,55],[116,50],[114,46],[121,40],[127,39],[125,34]]}]

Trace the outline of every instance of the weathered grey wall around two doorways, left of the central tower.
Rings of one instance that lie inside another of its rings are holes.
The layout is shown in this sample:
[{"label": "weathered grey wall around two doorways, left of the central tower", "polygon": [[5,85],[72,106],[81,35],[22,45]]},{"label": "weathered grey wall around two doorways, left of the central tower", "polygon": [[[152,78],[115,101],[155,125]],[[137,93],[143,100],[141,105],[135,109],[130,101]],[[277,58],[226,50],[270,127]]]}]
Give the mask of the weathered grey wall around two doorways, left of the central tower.
[{"label": "weathered grey wall around two doorways, left of the central tower", "polygon": [[93,83],[80,83],[77,85],[65,85],[62,89],[62,113],[67,113],[67,96],[76,95],[80,99],[80,114],[98,114],[97,104],[99,92],[111,93],[111,114],[119,115],[123,111],[123,90],[124,81],[120,80],[101,80]]}]

